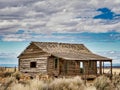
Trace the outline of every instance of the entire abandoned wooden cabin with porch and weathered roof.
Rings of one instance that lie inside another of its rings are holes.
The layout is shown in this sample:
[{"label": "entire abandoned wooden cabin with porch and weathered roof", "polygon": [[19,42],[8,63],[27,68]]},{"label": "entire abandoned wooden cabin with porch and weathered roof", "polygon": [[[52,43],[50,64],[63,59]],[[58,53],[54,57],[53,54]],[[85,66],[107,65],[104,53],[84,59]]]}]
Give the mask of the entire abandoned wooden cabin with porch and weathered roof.
[{"label": "entire abandoned wooden cabin with porch and weathered roof", "polygon": [[112,75],[112,60],[92,53],[83,44],[31,42],[18,58],[23,73],[97,76],[104,74],[104,63],[110,62]]}]

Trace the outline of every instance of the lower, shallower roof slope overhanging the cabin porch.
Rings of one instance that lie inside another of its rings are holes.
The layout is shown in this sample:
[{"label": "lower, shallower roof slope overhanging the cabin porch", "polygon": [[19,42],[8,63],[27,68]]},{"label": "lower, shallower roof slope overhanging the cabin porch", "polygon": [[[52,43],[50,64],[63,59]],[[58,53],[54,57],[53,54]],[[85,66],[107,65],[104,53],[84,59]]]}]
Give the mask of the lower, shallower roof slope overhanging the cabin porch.
[{"label": "lower, shallower roof slope overhanging the cabin porch", "polygon": [[93,53],[52,53],[53,56],[65,59],[65,60],[103,60],[103,61],[111,61],[112,59],[96,55]]}]

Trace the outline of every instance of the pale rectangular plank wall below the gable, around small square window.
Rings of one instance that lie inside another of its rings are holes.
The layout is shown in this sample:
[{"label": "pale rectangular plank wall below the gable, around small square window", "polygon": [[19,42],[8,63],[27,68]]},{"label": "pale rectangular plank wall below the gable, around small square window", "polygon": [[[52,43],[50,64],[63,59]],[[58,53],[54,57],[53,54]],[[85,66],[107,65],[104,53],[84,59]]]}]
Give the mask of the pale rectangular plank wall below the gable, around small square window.
[{"label": "pale rectangular plank wall below the gable, around small square window", "polygon": [[[36,68],[31,68],[30,62],[36,62]],[[47,73],[47,58],[20,59],[20,71],[25,73]]]}]

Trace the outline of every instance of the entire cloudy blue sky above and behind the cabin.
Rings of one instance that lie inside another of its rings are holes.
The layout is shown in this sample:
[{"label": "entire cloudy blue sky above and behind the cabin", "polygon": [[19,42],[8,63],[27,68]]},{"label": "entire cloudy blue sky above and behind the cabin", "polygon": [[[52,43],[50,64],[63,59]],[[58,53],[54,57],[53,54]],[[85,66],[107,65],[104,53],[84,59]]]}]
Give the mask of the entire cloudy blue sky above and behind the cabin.
[{"label": "entire cloudy blue sky above and behind the cabin", "polygon": [[120,65],[120,1],[0,0],[0,64],[31,41],[83,43]]}]

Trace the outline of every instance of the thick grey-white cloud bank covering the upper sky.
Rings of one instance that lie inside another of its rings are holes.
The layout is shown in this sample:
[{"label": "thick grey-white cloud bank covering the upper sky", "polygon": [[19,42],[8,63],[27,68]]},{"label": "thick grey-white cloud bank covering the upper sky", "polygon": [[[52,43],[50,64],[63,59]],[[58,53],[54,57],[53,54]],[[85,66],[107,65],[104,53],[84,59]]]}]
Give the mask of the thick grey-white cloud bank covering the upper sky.
[{"label": "thick grey-white cloud bank covering the upper sky", "polygon": [[8,38],[8,34],[15,34],[19,29],[37,34],[120,32],[119,18],[93,19],[101,13],[96,10],[103,7],[119,14],[119,4],[119,0],[0,0],[0,35],[2,40],[23,41],[28,38]]}]

